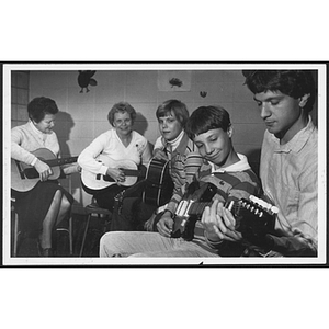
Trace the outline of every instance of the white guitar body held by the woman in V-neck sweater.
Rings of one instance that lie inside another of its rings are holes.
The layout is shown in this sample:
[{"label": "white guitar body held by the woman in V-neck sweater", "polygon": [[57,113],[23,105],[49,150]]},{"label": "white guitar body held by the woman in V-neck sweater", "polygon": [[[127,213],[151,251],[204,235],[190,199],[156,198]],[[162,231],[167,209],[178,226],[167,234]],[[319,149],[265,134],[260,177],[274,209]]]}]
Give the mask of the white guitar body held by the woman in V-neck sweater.
[{"label": "white guitar body held by the woman in V-neck sweater", "polygon": [[[140,171],[137,164],[132,160],[113,160],[109,156],[99,155],[97,161],[111,168],[120,168],[125,172],[126,180],[121,183],[123,186],[132,186],[137,182]],[[114,180],[109,175],[97,174],[82,169],[82,183],[90,190],[102,190],[113,184]]]}]

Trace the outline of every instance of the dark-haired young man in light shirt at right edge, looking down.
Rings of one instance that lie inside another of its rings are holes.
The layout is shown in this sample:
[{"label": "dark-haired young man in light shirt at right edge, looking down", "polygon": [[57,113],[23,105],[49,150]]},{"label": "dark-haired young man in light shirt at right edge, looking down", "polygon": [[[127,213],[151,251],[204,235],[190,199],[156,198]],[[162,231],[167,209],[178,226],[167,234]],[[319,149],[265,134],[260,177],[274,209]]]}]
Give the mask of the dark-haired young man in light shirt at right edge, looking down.
[{"label": "dark-haired young man in light shirt at right edge, looking down", "polygon": [[[266,125],[260,163],[264,197],[279,208],[274,232],[260,235],[253,242],[270,256],[317,256],[318,132],[309,115],[315,101],[311,72],[256,70],[245,75]],[[241,240],[224,225],[234,223],[234,217],[223,204],[207,208],[204,219],[216,223],[217,240]]]}]

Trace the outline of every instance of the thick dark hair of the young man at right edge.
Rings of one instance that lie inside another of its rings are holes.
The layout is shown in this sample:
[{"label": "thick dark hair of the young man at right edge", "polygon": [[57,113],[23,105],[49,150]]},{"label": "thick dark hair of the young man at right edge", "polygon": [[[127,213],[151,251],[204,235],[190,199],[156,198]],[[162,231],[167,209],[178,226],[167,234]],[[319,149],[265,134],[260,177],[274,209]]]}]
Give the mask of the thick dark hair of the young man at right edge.
[{"label": "thick dark hair of the young man at right edge", "polygon": [[254,70],[243,71],[245,83],[252,93],[280,91],[297,100],[310,94],[305,105],[310,112],[315,102],[315,81],[310,70]]}]

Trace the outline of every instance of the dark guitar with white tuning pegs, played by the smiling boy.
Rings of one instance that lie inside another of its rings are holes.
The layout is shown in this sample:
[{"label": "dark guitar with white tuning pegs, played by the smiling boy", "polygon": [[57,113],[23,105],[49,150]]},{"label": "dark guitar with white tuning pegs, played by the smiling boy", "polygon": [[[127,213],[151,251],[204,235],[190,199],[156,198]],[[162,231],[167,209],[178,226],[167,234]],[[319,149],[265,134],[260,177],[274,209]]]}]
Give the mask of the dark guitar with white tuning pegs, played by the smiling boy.
[{"label": "dark guitar with white tuning pegs, played by the smiling boy", "polygon": [[[200,185],[198,182],[193,182],[189,185],[175,212],[173,238],[182,237],[189,241],[194,238],[195,224],[201,219],[205,207],[212,205],[216,192],[217,188],[213,183]],[[235,229],[242,236],[274,231],[277,207],[254,195],[250,195],[249,200],[241,198],[226,203],[225,207],[234,214]]]}]

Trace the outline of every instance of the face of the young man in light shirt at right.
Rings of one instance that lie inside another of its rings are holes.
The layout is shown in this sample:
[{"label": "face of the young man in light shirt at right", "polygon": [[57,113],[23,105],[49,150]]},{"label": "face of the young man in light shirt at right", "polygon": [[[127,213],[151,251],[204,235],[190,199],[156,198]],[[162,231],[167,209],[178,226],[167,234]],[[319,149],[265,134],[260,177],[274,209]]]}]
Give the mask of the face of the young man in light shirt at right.
[{"label": "face of the young man in light shirt at right", "polygon": [[266,91],[254,94],[253,99],[268,131],[277,138],[290,138],[290,133],[294,133],[294,126],[300,120],[300,106],[305,105],[308,95],[295,100],[280,91]]}]

